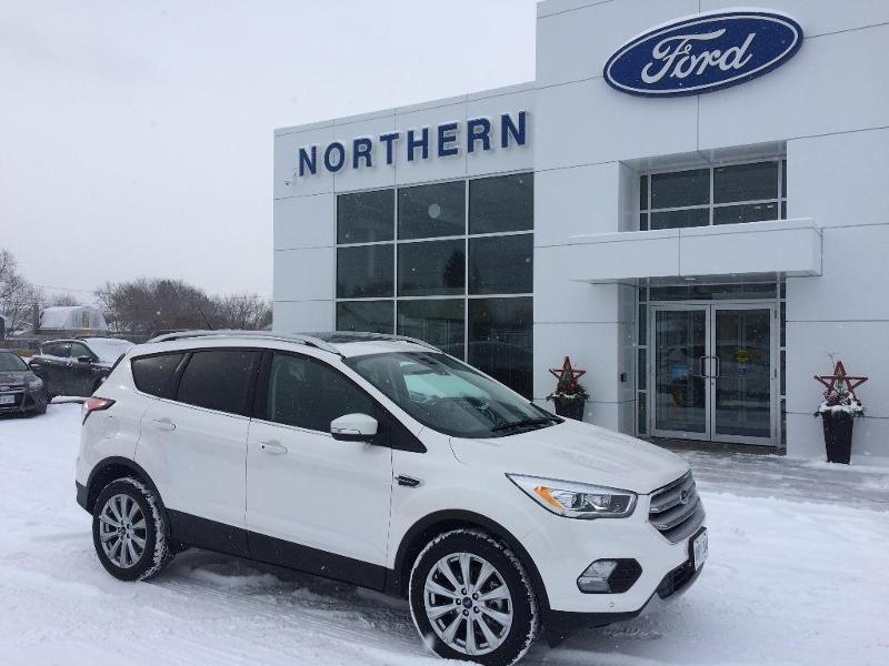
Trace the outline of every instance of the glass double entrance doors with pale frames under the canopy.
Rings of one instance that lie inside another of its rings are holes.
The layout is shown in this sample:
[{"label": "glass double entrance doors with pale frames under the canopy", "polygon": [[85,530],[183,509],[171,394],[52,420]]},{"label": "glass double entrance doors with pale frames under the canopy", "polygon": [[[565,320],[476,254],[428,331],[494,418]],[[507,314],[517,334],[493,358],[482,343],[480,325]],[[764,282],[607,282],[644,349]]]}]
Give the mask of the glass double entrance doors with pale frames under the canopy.
[{"label": "glass double entrance doors with pale frames under the canopy", "polygon": [[652,305],[650,313],[651,434],[773,445],[775,305]]}]

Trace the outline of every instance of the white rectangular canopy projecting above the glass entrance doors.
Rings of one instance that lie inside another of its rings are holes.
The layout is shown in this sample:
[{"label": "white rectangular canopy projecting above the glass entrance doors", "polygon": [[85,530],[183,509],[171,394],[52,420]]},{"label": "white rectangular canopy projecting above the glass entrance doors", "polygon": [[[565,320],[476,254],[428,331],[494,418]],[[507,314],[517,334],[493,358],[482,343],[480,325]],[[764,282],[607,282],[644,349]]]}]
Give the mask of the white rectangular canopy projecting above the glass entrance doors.
[{"label": "white rectangular canopy projecting above the glass entrance doors", "polygon": [[576,235],[570,243],[577,282],[821,274],[821,229],[810,219]]}]

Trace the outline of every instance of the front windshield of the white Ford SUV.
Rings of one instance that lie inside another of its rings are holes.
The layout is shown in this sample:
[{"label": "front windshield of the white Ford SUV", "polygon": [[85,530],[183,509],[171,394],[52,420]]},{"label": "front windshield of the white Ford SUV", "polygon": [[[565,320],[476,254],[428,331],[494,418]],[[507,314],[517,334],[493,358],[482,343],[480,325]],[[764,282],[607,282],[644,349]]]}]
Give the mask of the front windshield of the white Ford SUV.
[{"label": "front windshield of the white Ford SUV", "polygon": [[373,354],[346,363],[417,421],[447,435],[501,437],[561,421],[444,354]]}]

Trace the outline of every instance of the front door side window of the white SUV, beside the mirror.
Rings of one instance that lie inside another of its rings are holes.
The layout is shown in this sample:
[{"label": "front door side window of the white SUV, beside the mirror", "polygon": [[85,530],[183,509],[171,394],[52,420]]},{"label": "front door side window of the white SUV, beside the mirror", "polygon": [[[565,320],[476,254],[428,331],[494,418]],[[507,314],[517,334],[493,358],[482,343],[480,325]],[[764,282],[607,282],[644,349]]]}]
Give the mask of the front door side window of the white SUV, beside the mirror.
[{"label": "front door side window of the white SUV, beside the mirror", "polygon": [[373,401],[342,373],[309,359],[274,355],[268,421],[329,433],[331,421],[354,413],[376,414]]}]

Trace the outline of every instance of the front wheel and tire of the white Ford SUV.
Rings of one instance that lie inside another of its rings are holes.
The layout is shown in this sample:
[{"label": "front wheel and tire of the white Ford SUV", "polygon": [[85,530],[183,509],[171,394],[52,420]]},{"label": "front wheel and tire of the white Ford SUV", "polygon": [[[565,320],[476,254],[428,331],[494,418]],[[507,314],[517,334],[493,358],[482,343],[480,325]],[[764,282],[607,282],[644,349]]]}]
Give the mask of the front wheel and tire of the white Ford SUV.
[{"label": "front wheel and tire of the white Ford SUV", "polygon": [[509,666],[525,656],[540,626],[537,597],[521,563],[477,529],[432,539],[413,564],[408,597],[420,636],[446,659]]}]

